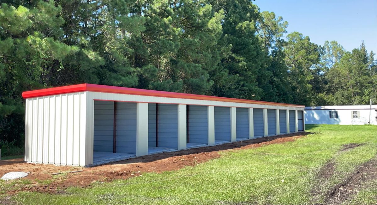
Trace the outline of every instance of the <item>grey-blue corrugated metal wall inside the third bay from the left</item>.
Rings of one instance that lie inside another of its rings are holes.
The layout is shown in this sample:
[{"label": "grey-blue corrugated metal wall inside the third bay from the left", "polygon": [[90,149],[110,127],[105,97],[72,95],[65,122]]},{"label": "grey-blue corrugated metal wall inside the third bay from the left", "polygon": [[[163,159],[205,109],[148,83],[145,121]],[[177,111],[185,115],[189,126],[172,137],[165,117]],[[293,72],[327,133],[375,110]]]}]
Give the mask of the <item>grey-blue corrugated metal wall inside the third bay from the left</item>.
[{"label": "grey-blue corrugated metal wall inside the third bay from the left", "polygon": [[208,143],[207,106],[189,105],[189,142]]}]

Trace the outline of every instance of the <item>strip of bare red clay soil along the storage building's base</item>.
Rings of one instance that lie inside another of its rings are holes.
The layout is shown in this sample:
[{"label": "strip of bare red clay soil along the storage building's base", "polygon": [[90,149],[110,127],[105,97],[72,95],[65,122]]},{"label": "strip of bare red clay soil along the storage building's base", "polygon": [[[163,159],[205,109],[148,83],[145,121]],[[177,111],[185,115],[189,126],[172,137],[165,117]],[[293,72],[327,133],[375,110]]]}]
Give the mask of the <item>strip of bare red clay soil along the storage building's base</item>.
[{"label": "strip of bare red clay soil along the storage building's base", "polygon": [[[147,155],[95,167],[55,166],[52,164],[25,163],[23,158],[0,161],[0,176],[7,172],[30,172],[23,179],[28,179],[31,184],[22,186],[19,190],[10,191],[14,194],[20,190],[40,192],[57,192],[61,188],[70,186],[87,187],[92,182],[108,182],[114,179],[127,179],[139,176],[146,172],[163,172],[178,170],[185,166],[195,166],[213,158],[220,157],[219,151],[236,151],[250,149],[264,145],[285,143],[302,137],[305,133],[285,134],[273,137],[263,137],[242,142],[233,142],[217,146],[186,149],[176,152]],[[242,144],[242,147],[241,147]],[[52,173],[83,170],[82,172],[68,173],[61,178],[53,178]],[[48,185],[41,183],[43,180],[52,180]],[[39,182],[38,182],[39,181]]]}]

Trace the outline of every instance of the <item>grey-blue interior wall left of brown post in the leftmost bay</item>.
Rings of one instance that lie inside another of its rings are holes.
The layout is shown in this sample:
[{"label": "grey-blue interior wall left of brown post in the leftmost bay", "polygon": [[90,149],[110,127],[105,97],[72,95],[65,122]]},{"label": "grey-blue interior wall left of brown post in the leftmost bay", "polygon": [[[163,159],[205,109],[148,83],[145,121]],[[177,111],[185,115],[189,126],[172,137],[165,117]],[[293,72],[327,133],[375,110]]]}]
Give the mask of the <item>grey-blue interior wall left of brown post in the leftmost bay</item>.
[{"label": "grey-blue interior wall left of brown post in the leftmost bay", "polygon": [[93,151],[113,151],[114,102],[94,101]]}]

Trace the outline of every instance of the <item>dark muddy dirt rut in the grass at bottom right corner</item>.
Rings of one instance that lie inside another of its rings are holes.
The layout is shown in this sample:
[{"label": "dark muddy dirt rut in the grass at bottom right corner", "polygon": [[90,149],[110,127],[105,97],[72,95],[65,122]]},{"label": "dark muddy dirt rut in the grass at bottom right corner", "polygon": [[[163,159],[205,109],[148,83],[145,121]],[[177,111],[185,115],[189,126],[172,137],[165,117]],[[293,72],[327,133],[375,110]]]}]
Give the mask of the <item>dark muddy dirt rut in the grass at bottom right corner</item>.
[{"label": "dark muddy dirt rut in the grass at bottom right corner", "polygon": [[377,160],[373,158],[361,166],[357,167],[348,178],[328,191],[326,205],[342,204],[348,199],[352,199],[358,190],[362,188],[363,182],[377,178]]}]

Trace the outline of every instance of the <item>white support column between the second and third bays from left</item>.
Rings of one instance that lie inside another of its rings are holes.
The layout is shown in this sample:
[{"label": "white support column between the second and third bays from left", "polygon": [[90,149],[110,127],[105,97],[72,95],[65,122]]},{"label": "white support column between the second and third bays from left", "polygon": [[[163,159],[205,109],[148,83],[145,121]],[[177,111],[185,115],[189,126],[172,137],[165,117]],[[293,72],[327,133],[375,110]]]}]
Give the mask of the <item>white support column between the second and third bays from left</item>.
[{"label": "white support column between the second and third bays from left", "polygon": [[178,149],[186,149],[187,145],[187,106],[178,104]]}]

